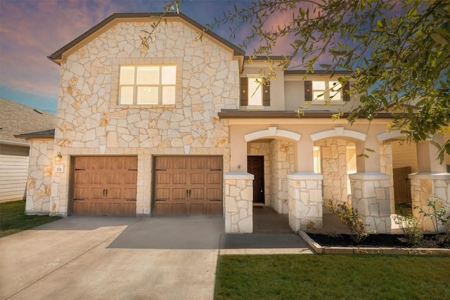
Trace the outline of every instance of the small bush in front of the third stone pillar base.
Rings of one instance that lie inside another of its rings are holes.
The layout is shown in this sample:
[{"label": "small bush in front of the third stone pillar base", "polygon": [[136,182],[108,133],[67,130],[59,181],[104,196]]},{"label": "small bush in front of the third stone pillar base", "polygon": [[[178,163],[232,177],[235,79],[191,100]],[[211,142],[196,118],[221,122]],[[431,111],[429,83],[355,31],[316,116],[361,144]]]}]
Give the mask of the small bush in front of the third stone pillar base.
[{"label": "small bush in front of the third stone pillar base", "polygon": [[358,210],[349,207],[347,203],[338,204],[337,207],[334,207],[333,203],[330,202],[327,207],[330,211],[333,211],[333,213],[338,215],[342,223],[349,227],[350,233],[352,233],[352,240],[356,242],[356,244],[364,241],[371,233],[366,230],[363,221],[358,215]]}]

